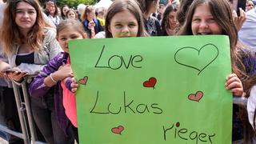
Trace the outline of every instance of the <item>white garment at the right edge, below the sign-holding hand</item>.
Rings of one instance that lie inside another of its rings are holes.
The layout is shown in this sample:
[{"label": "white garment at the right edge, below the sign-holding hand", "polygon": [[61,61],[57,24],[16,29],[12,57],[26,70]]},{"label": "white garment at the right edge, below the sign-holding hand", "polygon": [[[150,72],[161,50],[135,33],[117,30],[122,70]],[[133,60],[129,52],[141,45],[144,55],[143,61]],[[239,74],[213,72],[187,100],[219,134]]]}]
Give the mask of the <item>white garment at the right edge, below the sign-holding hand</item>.
[{"label": "white garment at the right edge, below the sign-holding hand", "polygon": [[250,125],[253,127],[254,127],[254,121],[255,121],[254,120],[255,109],[256,109],[256,85],[254,85],[250,90],[250,97],[248,98],[248,102],[247,102],[248,118],[249,118]]}]

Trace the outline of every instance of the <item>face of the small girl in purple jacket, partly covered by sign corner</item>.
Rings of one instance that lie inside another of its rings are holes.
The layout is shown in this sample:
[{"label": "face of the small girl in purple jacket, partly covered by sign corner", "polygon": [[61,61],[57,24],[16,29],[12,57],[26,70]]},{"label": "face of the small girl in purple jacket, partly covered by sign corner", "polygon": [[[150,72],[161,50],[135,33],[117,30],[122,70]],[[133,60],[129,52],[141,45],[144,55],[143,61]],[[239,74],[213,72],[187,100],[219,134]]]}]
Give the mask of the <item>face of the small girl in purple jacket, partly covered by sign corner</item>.
[{"label": "face of the small girl in purple jacket, partly covered by sign corner", "polygon": [[68,42],[70,39],[86,38],[85,34],[81,34],[74,27],[69,26],[58,32],[58,43],[66,53],[69,53]]}]

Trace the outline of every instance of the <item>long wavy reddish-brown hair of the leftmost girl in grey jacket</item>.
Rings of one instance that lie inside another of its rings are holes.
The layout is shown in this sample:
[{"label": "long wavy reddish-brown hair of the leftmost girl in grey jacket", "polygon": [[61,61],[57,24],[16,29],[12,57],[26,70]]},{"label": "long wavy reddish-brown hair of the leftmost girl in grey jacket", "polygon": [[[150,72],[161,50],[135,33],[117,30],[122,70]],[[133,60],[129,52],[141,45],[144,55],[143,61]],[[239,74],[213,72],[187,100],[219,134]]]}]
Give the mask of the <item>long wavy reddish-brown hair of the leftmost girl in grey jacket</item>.
[{"label": "long wavy reddish-brown hair of the leftmost girl in grey jacket", "polygon": [[15,22],[16,8],[19,2],[26,2],[34,7],[37,13],[37,18],[31,30],[27,34],[27,41],[33,50],[40,50],[42,39],[44,37],[44,27],[47,25],[42,18],[41,7],[38,1],[35,0],[12,0],[8,1],[6,10],[3,14],[2,29],[0,30],[0,39],[5,54],[13,54],[16,50],[16,45],[21,45],[24,41],[24,36],[18,30],[18,25]]}]

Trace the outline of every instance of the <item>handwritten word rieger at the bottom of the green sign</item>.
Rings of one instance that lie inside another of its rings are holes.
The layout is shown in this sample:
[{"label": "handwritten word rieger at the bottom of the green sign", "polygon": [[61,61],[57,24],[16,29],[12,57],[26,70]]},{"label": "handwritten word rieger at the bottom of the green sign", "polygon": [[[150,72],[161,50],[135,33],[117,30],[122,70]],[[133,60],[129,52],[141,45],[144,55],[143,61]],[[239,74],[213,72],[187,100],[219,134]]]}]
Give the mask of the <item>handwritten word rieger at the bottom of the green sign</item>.
[{"label": "handwritten word rieger at the bottom of the green sign", "polygon": [[179,128],[180,123],[176,122],[176,125],[174,124],[170,126],[170,128],[165,128],[165,126],[162,126],[163,129],[163,138],[166,141],[166,133],[170,132],[170,134],[173,134],[174,138],[181,138],[186,141],[193,141],[195,140],[195,143],[198,144],[198,140],[200,142],[212,142],[212,138],[214,138],[215,134],[206,134],[206,133],[200,133],[198,134],[197,131],[190,131],[186,128]]}]

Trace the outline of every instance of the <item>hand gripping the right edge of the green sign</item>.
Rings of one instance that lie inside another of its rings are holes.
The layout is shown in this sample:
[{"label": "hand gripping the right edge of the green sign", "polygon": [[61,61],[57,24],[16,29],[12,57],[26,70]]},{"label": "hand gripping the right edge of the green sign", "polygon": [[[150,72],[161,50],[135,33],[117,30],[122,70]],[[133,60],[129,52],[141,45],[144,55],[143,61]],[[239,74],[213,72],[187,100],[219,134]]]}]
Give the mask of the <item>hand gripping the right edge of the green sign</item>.
[{"label": "hand gripping the right edge of the green sign", "polygon": [[238,78],[237,74],[230,74],[226,78],[225,86],[226,86],[226,90],[230,90],[234,95],[242,96],[243,94],[242,82]]}]

